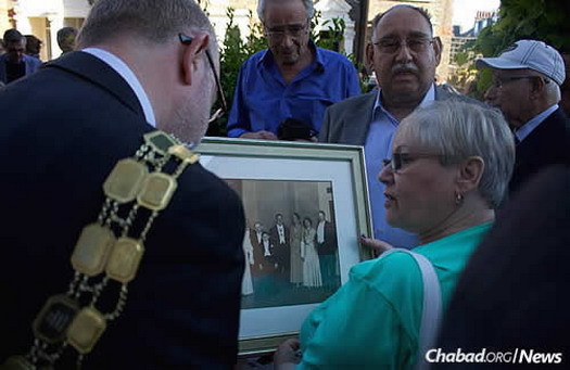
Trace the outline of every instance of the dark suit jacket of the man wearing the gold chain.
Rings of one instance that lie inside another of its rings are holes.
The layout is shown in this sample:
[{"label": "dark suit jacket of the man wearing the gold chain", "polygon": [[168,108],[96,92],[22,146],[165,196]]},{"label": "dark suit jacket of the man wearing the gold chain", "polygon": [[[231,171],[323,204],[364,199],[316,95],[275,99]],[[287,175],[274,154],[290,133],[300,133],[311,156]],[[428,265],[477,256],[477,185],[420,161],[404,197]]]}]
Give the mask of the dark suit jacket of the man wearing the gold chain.
[{"label": "dark suit jacket of the man wearing the gold chain", "polygon": [[[0,90],[0,116],[1,363],[27,353],[38,310],[67,291],[69,256],[97,220],[103,181],[153,128],[123,78],[83,52]],[[237,194],[189,166],[148,235],[123,315],[84,368],[232,368],[244,225]]]}]

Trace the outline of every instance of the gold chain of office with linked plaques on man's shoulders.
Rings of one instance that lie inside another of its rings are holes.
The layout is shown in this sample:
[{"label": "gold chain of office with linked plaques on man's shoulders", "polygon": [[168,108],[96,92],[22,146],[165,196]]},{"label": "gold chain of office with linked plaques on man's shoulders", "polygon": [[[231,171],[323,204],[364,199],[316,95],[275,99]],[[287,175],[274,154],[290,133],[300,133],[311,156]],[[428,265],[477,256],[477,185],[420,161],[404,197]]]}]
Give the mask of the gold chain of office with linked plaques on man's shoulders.
[{"label": "gold chain of office with linked plaques on man's shoulders", "polygon": [[[28,354],[10,357],[0,366],[2,370],[53,369],[68,346],[77,352],[80,368],[107,322],[121,316],[128,283],[144,254],[147,234],[168,205],[177,178],[199,160],[163,131],[147,133],[143,139],[135,156],[118,161],[103,183],[101,213],[96,222],[83,229],[72,254],[75,276],[67,292],[48,298],[31,326],[35,339]],[[167,174],[172,161],[172,174]],[[103,312],[98,303],[113,284],[115,306]]]}]

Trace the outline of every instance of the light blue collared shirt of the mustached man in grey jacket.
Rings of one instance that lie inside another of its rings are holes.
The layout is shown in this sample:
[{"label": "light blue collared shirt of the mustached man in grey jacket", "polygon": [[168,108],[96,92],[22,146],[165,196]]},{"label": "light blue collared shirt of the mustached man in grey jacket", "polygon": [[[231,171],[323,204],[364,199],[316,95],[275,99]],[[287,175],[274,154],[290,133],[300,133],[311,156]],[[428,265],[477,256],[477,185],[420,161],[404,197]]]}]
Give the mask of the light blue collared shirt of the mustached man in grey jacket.
[{"label": "light blue collared shirt of the mustached man in grey jacket", "polygon": [[[372,112],[372,123],[370,123],[366,143],[364,145],[367,171],[366,176],[368,180],[368,192],[370,194],[375,238],[396,247],[409,250],[419,244],[416,234],[398,228],[393,228],[388,225],[385,220],[385,186],[380,182],[378,175],[382,169],[382,160],[392,157],[392,141],[400,122],[384,110],[380,101],[380,93],[381,90],[376,98]],[[419,105],[423,106],[434,100],[435,87],[432,85]]]}]

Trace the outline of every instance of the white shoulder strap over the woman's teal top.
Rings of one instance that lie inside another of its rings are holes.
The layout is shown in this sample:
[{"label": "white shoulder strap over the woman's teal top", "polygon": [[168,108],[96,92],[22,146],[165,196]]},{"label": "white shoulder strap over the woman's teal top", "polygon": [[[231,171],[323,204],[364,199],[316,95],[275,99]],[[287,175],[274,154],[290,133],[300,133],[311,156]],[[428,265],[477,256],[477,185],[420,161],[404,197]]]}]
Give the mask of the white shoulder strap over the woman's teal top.
[{"label": "white shoulder strap over the woman's teal top", "polygon": [[428,362],[423,359],[423,355],[433,346],[442,314],[442,292],[440,280],[438,280],[438,275],[435,273],[433,265],[421,254],[404,248],[393,248],[384,252],[382,257],[390,253],[397,252],[410,255],[416,260],[416,264],[418,264],[421,272],[421,280],[423,281],[423,308],[421,310],[419,350],[418,358],[416,359],[416,369],[427,369]]}]

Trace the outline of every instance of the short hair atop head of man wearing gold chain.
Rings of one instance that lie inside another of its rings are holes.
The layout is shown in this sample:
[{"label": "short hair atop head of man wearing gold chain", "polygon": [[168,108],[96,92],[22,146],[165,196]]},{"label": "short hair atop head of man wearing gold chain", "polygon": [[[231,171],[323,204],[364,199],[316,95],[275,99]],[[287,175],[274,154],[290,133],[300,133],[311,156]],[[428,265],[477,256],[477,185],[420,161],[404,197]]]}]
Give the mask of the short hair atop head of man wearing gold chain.
[{"label": "short hair atop head of man wearing gold chain", "polygon": [[163,43],[188,28],[207,31],[211,49],[217,48],[212,24],[193,0],[98,0],[77,36],[77,46],[94,46],[122,34]]}]

